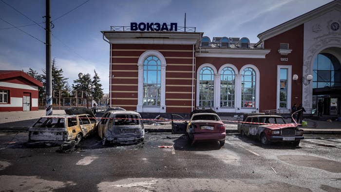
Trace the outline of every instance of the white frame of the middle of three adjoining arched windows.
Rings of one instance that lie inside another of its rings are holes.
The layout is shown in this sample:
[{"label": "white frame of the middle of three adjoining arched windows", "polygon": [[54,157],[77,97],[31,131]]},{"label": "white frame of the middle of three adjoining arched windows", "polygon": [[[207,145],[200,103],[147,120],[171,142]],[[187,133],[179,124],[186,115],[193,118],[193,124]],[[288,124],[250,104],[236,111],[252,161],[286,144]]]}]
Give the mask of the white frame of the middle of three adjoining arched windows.
[{"label": "white frame of the middle of three adjoining arched windows", "polygon": [[[223,71],[223,69],[225,67],[230,67],[233,69],[234,71],[234,107],[233,108],[225,108],[225,107],[220,107],[220,82],[221,82],[221,73]],[[218,76],[219,78],[217,78],[217,83],[216,85],[218,86],[218,89],[215,89],[215,92],[216,92],[216,100],[217,100],[217,104],[216,104],[216,108],[215,108],[215,111],[216,112],[226,112],[226,113],[234,113],[236,112],[236,106],[237,106],[237,97],[238,97],[238,94],[237,94],[237,90],[239,88],[239,85],[238,85],[238,81],[237,81],[237,77],[238,77],[239,73],[238,73],[238,69],[237,67],[235,67],[234,65],[230,64],[230,63],[227,63],[227,64],[224,64],[223,66],[221,66],[219,68],[219,71],[218,71]]]}]

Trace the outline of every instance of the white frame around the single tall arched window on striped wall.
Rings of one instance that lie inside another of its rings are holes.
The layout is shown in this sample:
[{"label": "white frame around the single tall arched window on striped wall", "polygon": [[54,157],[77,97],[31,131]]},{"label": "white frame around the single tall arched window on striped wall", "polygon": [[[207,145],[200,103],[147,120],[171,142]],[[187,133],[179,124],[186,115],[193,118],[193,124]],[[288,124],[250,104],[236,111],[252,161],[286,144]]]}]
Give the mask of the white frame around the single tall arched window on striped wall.
[{"label": "white frame around the single tall arched window on striped wall", "polygon": [[[149,56],[155,56],[161,61],[161,95],[160,95],[160,106],[144,106],[143,105],[143,62]],[[138,94],[137,94],[137,112],[147,113],[166,113],[166,58],[156,50],[145,51],[138,58]]]}]

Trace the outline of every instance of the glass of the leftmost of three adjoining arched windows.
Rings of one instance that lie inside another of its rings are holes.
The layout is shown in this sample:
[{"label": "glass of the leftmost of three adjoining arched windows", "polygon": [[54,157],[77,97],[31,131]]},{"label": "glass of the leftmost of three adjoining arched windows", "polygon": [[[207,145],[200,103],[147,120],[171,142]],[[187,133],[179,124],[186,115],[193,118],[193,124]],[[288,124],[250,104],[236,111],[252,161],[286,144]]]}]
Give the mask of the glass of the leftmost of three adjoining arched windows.
[{"label": "glass of the leftmost of three adjoining arched windows", "polygon": [[210,67],[204,67],[199,74],[199,106],[214,105],[214,72]]}]

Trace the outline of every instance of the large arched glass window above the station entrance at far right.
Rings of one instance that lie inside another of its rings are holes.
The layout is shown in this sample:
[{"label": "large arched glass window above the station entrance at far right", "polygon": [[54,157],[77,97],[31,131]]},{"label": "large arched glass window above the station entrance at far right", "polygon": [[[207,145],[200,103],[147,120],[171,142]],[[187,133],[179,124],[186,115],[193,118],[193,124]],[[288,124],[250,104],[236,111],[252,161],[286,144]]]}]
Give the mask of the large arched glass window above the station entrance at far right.
[{"label": "large arched glass window above the station entrance at far right", "polygon": [[341,86],[341,65],[331,54],[319,54],[314,61],[313,89]]}]

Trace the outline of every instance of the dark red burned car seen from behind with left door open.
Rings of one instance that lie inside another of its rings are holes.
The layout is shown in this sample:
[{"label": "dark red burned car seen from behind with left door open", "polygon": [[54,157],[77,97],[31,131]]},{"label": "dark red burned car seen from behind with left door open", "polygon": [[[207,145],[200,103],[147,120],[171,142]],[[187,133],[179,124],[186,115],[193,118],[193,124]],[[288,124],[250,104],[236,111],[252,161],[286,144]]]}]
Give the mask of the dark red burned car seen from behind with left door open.
[{"label": "dark red burned car seen from behind with left door open", "polygon": [[[211,110],[213,111],[213,110]],[[209,111],[209,112],[211,112]],[[215,113],[202,113],[205,110],[194,110],[189,122],[175,121],[172,115],[172,133],[183,133],[186,127],[186,135],[191,144],[196,141],[215,140],[220,146],[225,144],[225,124]],[[214,111],[213,111],[214,112]]]}]

